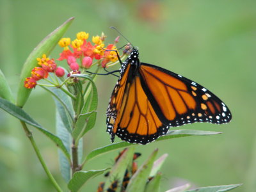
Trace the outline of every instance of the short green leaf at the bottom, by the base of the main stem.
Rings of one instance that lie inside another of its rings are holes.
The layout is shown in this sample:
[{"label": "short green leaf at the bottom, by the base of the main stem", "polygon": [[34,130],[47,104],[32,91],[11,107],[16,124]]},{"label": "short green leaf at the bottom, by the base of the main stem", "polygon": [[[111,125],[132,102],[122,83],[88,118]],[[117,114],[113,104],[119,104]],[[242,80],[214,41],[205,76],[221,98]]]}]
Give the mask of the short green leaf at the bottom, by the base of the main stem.
[{"label": "short green leaf at the bottom, by the base of the main stem", "polygon": [[96,177],[98,175],[101,175],[106,170],[109,170],[109,168],[106,168],[104,170],[90,170],[90,171],[79,171],[74,173],[72,179],[70,182],[68,182],[68,189],[70,189],[72,192],[78,191],[83,184],[93,177]]}]

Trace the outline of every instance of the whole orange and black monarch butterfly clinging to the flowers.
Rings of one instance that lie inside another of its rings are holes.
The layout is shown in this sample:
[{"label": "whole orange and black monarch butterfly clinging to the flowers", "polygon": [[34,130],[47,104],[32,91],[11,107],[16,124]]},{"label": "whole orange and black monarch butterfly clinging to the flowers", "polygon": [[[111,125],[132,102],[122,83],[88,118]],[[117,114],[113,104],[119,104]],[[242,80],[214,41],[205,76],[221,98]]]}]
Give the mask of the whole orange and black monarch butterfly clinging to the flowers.
[{"label": "whole orange and black monarch butterfly clinging to the flowers", "polygon": [[147,144],[170,127],[195,122],[223,124],[227,106],[198,83],[156,65],[141,63],[138,49],[122,63],[107,110],[107,132],[129,143]]}]

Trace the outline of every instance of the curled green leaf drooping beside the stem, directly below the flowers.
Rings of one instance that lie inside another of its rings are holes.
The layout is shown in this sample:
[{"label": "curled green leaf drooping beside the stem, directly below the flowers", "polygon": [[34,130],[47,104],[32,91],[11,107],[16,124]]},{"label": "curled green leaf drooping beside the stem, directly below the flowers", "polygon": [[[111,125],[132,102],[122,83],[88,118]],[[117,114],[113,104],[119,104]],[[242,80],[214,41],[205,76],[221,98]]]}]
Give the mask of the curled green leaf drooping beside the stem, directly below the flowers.
[{"label": "curled green leaf drooping beside the stem, directly below the flowers", "polygon": [[96,109],[98,105],[98,93],[95,83],[90,76],[86,74],[74,74],[71,77],[81,77],[90,81],[90,86],[88,86],[88,89],[86,90],[88,94],[88,96],[87,94],[85,96],[86,102],[84,102],[83,109],[77,118],[75,129],[72,133],[72,136],[77,141],[79,138],[83,137],[86,132],[90,131],[90,129],[92,129],[95,125],[97,116]]}]

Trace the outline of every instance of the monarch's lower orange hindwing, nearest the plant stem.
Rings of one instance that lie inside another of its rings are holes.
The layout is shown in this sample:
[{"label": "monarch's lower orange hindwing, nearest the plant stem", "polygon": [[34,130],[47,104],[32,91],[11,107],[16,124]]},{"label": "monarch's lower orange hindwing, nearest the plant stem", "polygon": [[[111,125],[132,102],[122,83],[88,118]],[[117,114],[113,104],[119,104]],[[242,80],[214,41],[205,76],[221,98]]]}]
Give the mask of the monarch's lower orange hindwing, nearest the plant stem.
[{"label": "monarch's lower orange hindwing, nearest the plant stem", "polygon": [[168,127],[163,125],[154,111],[141,86],[140,76],[129,78],[129,72],[132,73],[129,66],[112,93],[107,113],[107,131],[112,141],[116,134],[129,143],[147,144],[166,134]]}]

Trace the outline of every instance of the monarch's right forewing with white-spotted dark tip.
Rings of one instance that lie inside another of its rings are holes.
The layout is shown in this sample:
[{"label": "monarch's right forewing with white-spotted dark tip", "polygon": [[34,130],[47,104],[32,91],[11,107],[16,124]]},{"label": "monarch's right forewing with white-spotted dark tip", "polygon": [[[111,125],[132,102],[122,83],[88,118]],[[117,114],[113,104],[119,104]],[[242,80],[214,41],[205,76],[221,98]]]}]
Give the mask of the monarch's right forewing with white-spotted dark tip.
[{"label": "monarch's right forewing with white-spotted dark tip", "polygon": [[147,63],[141,63],[140,74],[143,90],[164,124],[177,127],[194,122],[230,122],[227,106],[200,84]]}]

